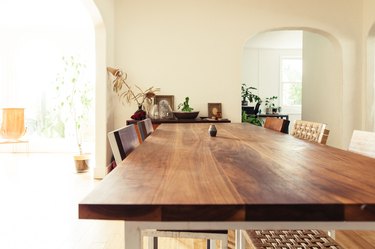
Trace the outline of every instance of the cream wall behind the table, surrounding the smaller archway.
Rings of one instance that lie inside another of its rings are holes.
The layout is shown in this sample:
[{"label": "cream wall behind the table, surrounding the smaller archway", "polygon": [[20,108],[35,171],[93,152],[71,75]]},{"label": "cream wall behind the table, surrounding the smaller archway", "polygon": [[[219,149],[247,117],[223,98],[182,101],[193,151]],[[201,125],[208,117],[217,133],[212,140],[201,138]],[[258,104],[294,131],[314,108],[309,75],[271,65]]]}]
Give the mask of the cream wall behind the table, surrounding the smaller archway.
[{"label": "cream wall behind the table, surrounding the smaller archway", "polygon": [[[201,115],[208,102],[221,102],[223,115],[240,122],[245,42],[260,32],[281,28],[326,32],[342,51],[339,108],[345,110],[345,144],[353,127],[361,123],[361,117],[354,120],[351,115],[361,108],[353,100],[361,99],[362,93],[362,7],[358,0],[117,0],[114,37],[108,40],[114,44],[110,64],[124,69],[130,83],[143,88],[154,85],[161,88],[160,94],[175,95],[176,103],[190,96]],[[113,17],[103,18],[106,23]],[[124,125],[135,110],[134,104],[117,104],[114,126]]]}]

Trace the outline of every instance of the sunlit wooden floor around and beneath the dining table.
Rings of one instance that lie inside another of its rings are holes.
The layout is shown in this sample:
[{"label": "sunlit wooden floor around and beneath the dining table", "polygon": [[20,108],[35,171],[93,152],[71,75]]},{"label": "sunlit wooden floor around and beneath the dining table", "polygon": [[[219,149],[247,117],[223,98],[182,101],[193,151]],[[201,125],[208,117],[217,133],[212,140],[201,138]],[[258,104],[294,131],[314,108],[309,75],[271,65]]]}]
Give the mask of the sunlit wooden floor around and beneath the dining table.
[{"label": "sunlit wooden floor around and beneath the dining table", "polygon": [[[0,153],[0,248],[124,249],[122,221],[79,220],[78,202],[97,184],[68,154]],[[375,230],[375,229],[374,229]],[[337,231],[344,248],[375,249],[375,232]],[[162,249],[204,241],[160,239]]]}]

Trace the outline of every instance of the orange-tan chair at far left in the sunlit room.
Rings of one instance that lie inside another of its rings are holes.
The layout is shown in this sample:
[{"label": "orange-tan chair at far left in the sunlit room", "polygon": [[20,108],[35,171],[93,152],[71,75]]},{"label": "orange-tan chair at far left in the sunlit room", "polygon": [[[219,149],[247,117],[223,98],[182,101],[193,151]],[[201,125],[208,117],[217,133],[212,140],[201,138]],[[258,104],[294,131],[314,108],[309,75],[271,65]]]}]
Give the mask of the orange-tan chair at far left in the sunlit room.
[{"label": "orange-tan chair at far left in the sunlit room", "polygon": [[25,132],[24,108],[3,108],[1,136],[5,139],[18,140]]}]

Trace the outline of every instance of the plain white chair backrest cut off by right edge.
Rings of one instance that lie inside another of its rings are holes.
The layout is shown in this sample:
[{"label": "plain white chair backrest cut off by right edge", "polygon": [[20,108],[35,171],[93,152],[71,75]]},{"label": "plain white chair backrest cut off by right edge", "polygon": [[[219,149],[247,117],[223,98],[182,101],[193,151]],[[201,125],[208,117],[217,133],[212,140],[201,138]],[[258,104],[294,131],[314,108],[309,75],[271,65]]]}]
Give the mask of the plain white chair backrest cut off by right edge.
[{"label": "plain white chair backrest cut off by right edge", "polygon": [[375,158],[375,132],[354,130],[348,150]]}]

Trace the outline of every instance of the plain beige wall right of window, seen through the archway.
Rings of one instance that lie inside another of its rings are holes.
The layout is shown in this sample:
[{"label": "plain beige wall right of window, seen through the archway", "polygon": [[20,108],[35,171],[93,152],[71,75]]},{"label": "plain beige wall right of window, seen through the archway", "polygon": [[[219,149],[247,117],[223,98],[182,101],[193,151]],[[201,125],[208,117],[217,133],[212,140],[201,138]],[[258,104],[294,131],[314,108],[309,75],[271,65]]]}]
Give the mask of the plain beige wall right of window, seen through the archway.
[{"label": "plain beige wall right of window, seen through the archway", "polygon": [[[328,145],[345,148],[342,140],[342,82],[338,48],[327,38],[303,34],[302,119],[321,122],[330,130]],[[355,103],[353,103],[355,104]],[[356,113],[351,113],[356,118]]]}]

